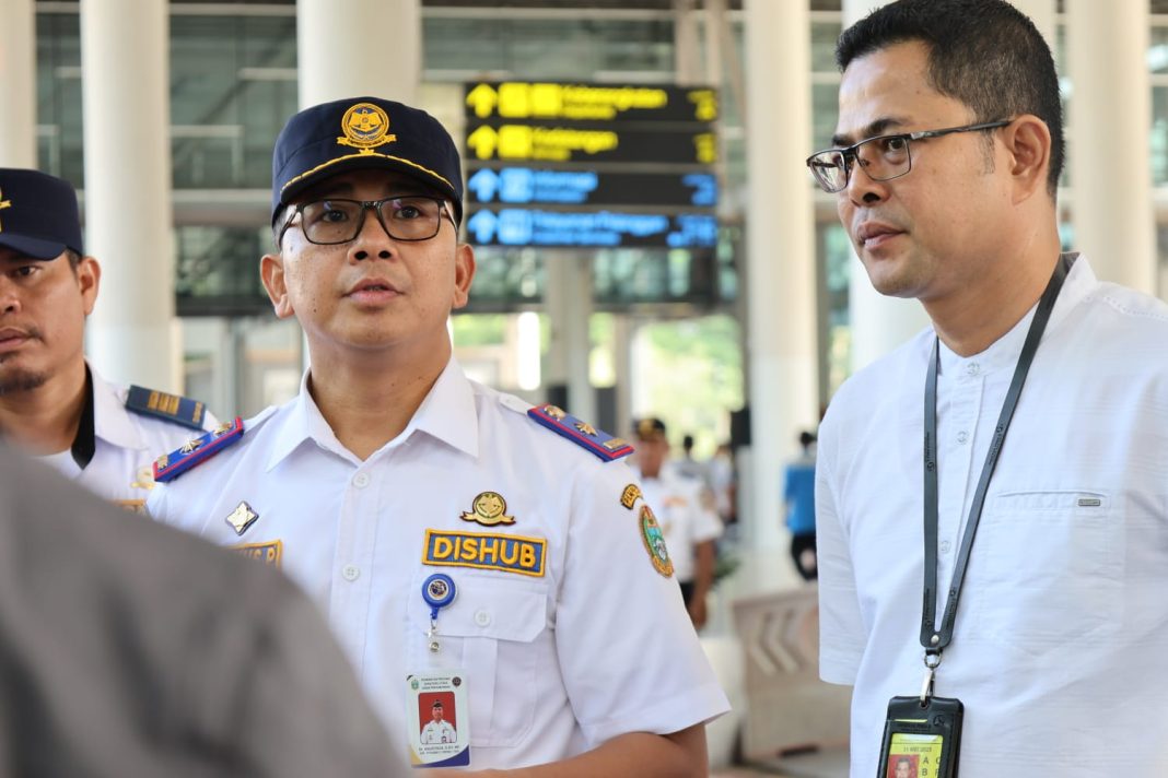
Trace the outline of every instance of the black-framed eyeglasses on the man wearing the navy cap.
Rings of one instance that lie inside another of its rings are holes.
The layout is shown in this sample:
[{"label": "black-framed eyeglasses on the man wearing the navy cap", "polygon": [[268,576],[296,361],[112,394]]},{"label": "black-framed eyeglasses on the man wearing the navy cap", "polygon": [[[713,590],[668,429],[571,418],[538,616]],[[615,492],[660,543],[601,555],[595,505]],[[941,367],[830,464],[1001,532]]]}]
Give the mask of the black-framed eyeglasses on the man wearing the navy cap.
[{"label": "black-framed eyeglasses on the man wearing the navy cap", "polygon": [[[364,212],[377,216],[377,223],[394,240],[430,240],[442,229],[443,215],[454,224],[450,205],[440,197],[426,195],[396,195],[383,199],[346,199],[328,197],[300,203],[288,216],[276,244],[284,240],[284,233],[300,215],[300,229],[308,243],[331,246],[348,243],[361,233]],[[458,226],[456,225],[456,229]]]}]

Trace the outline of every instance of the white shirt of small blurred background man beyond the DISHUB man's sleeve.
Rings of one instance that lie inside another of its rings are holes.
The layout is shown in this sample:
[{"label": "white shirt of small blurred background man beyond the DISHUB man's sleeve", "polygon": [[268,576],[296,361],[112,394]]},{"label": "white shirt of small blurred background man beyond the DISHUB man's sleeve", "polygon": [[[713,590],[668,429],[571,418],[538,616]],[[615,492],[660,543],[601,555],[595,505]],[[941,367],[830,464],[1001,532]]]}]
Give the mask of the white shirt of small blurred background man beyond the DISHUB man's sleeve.
[{"label": "white shirt of small blurred background man beyond the DISHUB man's sleeve", "polygon": [[694,547],[722,537],[722,520],[703,505],[704,484],[688,478],[666,463],[656,478],[641,478],[645,502],[661,525],[673,574],[683,583],[694,580]]}]

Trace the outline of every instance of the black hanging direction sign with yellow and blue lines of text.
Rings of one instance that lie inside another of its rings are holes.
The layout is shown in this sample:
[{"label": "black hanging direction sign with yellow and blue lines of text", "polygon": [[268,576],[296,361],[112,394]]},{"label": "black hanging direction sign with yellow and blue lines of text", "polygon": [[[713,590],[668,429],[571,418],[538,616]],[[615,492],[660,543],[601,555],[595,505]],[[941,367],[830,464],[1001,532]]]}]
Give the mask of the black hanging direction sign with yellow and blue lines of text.
[{"label": "black hanging direction sign with yellow and blue lines of text", "polygon": [[474,243],[717,243],[716,90],[533,82],[465,89]]}]

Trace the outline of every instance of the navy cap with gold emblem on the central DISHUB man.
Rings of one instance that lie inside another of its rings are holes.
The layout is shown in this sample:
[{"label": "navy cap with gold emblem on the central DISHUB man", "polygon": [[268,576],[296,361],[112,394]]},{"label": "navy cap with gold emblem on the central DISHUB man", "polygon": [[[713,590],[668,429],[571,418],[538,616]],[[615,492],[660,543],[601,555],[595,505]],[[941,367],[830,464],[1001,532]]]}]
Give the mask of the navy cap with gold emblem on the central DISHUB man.
[{"label": "navy cap with gold emblem on the central DISHUB man", "polygon": [[425,111],[376,97],[324,103],[288,119],[272,153],[272,223],[305,189],[348,170],[413,176],[463,222],[463,169],[450,133]]}]

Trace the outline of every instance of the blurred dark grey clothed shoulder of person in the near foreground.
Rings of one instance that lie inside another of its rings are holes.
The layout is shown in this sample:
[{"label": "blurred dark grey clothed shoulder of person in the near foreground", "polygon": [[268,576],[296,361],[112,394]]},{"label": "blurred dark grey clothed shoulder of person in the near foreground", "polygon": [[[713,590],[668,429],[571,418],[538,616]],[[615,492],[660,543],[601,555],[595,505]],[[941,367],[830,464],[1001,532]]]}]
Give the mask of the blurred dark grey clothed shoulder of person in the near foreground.
[{"label": "blurred dark grey clothed shoulder of person in the near foreground", "polygon": [[0,441],[0,776],[401,778],[317,608]]}]

